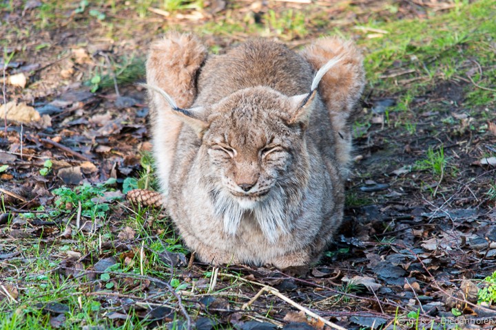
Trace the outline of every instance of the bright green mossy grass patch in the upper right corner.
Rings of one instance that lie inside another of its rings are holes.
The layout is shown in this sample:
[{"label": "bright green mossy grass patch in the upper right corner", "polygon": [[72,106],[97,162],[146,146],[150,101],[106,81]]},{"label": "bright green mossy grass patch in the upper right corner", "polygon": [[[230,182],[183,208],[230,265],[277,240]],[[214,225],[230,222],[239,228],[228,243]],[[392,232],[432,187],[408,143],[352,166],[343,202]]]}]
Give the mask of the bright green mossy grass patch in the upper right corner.
[{"label": "bright green mossy grass patch in the upper right corner", "polygon": [[[459,80],[459,76],[466,79],[466,72],[475,67],[475,63],[466,61],[472,58],[484,68],[479,85],[494,88],[496,75],[491,63],[495,62],[496,55],[490,42],[496,37],[495,13],[495,1],[482,0],[470,5],[459,3],[457,10],[428,19],[369,23],[366,25],[369,28],[389,32],[381,38],[358,40],[366,49],[365,67],[369,83],[384,91],[415,95],[440,79]],[[384,74],[395,67],[415,71],[384,78]],[[394,83],[395,80],[415,77],[422,80],[403,85]],[[477,83],[477,77],[474,80]],[[471,88],[467,98],[468,104],[487,104],[495,101],[495,94]]]}]

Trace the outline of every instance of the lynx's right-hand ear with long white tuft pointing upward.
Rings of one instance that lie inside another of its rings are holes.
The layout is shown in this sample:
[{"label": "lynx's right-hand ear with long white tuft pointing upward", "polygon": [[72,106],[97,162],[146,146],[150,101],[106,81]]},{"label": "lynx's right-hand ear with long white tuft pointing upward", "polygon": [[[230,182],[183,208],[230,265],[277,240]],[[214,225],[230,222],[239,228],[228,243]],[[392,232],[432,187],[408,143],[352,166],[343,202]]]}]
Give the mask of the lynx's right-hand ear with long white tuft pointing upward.
[{"label": "lynx's right-hand ear with long white tuft pointing upward", "polygon": [[305,124],[308,122],[311,111],[313,109],[312,107],[313,100],[315,99],[315,96],[317,94],[317,88],[318,88],[318,84],[320,83],[320,80],[322,80],[322,77],[325,74],[327,74],[327,72],[332,67],[334,67],[334,65],[340,63],[342,58],[343,58],[342,55],[335,56],[334,58],[331,59],[331,61],[327,62],[323,67],[321,67],[318,70],[316,75],[313,77],[309,94],[302,94],[302,95],[292,96],[291,98],[289,98],[289,100],[293,105],[293,109],[296,109],[293,115],[291,115],[291,119],[288,122],[289,124],[295,124],[296,122]]}]

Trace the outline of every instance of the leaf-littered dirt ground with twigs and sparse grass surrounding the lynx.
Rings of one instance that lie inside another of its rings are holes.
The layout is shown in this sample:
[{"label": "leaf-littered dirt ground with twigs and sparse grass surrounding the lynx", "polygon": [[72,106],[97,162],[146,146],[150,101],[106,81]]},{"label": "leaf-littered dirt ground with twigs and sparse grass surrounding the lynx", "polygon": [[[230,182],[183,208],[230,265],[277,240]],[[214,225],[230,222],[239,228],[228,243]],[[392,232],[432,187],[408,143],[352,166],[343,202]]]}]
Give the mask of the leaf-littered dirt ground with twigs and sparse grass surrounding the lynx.
[{"label": "leaf-littered dirt ground with twigs and sparse grass surrounding the lynx", "polygon": [[[477,2],[298,2],[0,1],[0,100],[15,108],[0,110],[0,329],[496,327],[496,33],[378,63],[384,27]],[[318,265],[198,263],[164,212],[125,199],[156,188],[134,83],[169,28],[214,53],[253,36],[362,47],[345,220]],[[450,76],[445,52],[464,59]]]}]

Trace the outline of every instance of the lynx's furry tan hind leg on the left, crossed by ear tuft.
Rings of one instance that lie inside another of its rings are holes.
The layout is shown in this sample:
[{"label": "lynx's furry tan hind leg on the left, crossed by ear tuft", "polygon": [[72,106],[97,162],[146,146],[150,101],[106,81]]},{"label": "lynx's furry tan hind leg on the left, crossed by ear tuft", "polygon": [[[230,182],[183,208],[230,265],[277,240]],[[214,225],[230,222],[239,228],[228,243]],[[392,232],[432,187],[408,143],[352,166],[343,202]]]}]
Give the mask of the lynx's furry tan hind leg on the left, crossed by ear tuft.
[{"label": "lynx's furry tan hind leg on the left, crossed by ear tuft", "polygon": [[[196,74],[206,56],[207,49],[195,36],[169,32],[150,47],[146,63],[147,84],[166,91],[178,107],[189,107],[196,98]],[[161,96],[150,92],[149,100],[157,172],[167,197],[169,173],[182,122],[172,114]]]}]

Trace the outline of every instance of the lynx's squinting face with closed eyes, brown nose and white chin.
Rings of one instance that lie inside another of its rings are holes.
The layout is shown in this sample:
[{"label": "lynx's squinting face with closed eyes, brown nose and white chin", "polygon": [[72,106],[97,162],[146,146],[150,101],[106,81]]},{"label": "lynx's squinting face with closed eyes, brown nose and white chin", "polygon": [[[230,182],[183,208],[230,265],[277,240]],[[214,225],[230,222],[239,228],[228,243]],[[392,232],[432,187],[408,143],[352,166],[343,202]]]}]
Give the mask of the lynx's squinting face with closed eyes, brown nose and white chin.
[{"label": "lynx's squinting face with closed eyes, brown nose and white chin", "polygon": [[211,177],[245,209],[281,189],[303,144],[300,126],[288,123],[289,98],[265,96],[238,93],[216,104],[203,137]]}]

